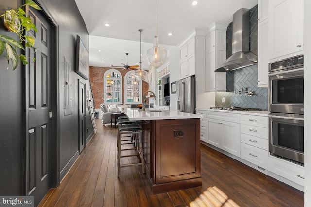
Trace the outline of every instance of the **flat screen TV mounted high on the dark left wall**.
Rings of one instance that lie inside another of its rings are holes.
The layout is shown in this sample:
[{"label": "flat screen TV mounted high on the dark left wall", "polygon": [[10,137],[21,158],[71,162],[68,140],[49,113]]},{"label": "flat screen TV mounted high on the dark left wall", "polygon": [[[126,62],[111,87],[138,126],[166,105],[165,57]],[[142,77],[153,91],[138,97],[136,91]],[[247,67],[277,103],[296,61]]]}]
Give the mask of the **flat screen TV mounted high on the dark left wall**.
[{"label": "flat screen TV mounted high on the dark left wall", "polygon": [[81,38],[77,35],[76,72],[85,80],[89,77],[89,53]]}]

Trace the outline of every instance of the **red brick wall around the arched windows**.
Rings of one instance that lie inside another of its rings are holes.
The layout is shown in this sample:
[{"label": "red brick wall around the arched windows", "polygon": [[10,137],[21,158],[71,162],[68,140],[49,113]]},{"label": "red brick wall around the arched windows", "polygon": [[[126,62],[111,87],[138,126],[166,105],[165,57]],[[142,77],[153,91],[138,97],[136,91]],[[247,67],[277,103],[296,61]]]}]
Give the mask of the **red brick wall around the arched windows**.
[{"label": "red brick wall around the arched windows", "polygon": [[[102,94],[104,93],[104,73],[107,70],[110,70],[110,67],[92,67],[90,66],[89,76],[92,86],[93,96],[95,100],[95,109],[100,109],[100,104],[103,103]],[[114,68],[118,70],[122,75],[122,100],[124,103],[124,76],[128,70],[123,70],[119,68]],[[145,81],[142,81],[142,93],[149,90],[149,84]],[[148,99],[147,99],[148,102]]]}]

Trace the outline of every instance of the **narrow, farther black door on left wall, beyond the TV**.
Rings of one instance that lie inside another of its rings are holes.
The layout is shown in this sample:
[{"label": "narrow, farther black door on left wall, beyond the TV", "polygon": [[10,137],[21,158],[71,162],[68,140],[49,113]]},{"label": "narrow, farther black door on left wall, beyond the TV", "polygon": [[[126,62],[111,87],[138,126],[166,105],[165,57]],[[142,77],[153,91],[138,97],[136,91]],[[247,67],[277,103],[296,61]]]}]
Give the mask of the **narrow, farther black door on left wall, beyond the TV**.
[{"label": "narrow, farther black door on left wall, beyond the TV", "polygon": [[82,152],[86,142],[86,83],[79,81],[79,151]]}]

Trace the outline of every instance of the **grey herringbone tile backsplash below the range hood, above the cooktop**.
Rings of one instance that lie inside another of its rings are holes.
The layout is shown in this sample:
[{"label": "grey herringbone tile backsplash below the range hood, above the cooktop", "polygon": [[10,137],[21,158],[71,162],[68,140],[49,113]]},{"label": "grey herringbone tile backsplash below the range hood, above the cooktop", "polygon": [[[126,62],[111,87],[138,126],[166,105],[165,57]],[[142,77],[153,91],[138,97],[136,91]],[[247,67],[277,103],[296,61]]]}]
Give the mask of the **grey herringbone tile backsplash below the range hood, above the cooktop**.
[{"label": "grey herringbone tile backsplash below the range hood, above the cooktop", "polygon": [[[235,93],[242,88],[250,90],[254,95],[246,96],[245,93]],[[225,97],[225,103],[222,103],[223,97]],[[216,92],[215,106],[237,106],[268,110],[268,88],[257,87],[257,65],[227,72],[227,91]]]}]

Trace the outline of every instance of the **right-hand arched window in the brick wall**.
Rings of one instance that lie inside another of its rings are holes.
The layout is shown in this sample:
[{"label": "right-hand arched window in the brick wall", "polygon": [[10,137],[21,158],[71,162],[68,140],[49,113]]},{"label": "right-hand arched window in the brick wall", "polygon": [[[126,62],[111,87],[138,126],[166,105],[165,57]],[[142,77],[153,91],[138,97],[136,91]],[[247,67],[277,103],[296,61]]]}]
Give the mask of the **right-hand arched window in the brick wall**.
[{"label": "right-hand arched window in the brick wall", "polygon": [[124,100],[126,104],[141,104],[142,81],[134,76],[134,70],[125,74],[124,77]]}]

